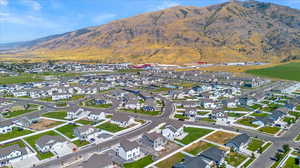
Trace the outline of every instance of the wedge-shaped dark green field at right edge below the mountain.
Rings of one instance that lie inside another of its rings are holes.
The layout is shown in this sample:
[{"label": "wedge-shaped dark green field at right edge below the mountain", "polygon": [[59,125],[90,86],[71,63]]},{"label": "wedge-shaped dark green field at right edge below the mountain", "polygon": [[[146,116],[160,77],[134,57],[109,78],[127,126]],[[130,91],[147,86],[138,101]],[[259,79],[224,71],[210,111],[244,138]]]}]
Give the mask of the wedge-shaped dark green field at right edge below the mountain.
[{"label": "wedge-shaped dark green field at right edge below the mountain", "polygon": [[278,65],[270,68],[248,70],[246,72],[257,76],[300,81],[299,62]]}]

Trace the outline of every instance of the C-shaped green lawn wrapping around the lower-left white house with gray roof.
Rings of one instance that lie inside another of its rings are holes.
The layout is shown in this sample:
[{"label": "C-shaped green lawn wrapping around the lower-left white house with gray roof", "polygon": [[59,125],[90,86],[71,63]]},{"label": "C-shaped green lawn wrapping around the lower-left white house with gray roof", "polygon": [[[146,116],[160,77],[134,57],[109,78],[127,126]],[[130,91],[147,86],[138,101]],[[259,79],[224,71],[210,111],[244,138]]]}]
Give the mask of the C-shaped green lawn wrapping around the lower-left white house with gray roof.
[{"label": "C-shaped green lawn wrapping around the lower-left white house with gray roof", "polygon": [[47,158],[50,158],[53,155],[53,153],[51,152],[47,152],[47,153],[41,153],[37,150],[36,146],[35,146],[35,142],[42,136],[44,135],[51,135],[51,136],[60,136],[58,135],[56,132],[54,131],[48,131],[48,132],[45,132],[45,133],[41,133],[41,134],[38,134],[38,135],[34,135],[34,136],[31,136],[31,137],[27,137],[27,138],[24,138],[24,140],[26,142],[28,142],[28,144],[35,149],[35,151],[37,152],[37,157],[40,159],[40,160],[44,160],[44,159],[47,159]]}]

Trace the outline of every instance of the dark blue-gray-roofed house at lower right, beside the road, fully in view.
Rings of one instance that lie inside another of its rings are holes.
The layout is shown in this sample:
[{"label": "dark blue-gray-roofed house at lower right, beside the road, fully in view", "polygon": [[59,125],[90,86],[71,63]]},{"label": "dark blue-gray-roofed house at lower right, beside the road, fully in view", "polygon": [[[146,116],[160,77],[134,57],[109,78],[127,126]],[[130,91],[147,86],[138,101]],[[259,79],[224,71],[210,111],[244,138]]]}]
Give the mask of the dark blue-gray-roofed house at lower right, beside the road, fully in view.
[{"label": "dark blue-gray-roofed house at lower right, beside the road, fully in view", "polygon": [[241,151],[242,149],[245,149],[245,147],[248,146],[248,143],[250,141],[250,137],[247,134],[240,134],[233,139],[229,140],[225,146],[230,147],[234,151]]}]

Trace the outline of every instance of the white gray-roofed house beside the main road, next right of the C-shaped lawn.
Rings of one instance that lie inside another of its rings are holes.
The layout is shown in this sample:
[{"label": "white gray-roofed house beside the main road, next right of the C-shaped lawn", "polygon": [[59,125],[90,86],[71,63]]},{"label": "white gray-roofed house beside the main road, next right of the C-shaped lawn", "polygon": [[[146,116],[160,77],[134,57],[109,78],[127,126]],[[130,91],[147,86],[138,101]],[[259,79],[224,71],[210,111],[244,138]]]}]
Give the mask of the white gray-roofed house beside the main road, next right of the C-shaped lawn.
[{"label": "white gray-roofed house beside the main road, next right of the C-shaped lawn", "polygon": [[95,141],[97,133],[99,132],[97,128],[90,125],[76,127],[73,131],[74,135],[80,140],[86,140],[90,142]]}]

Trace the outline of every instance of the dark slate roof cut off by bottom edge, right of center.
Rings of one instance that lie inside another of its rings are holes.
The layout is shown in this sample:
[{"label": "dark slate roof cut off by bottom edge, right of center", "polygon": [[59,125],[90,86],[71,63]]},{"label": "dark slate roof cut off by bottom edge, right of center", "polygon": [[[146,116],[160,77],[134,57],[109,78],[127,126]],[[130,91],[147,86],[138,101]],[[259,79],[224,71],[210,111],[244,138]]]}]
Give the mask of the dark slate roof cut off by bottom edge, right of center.
[{"label": "dark slate roof cut off by bottom edge, right of center", "polygon": [[173,168],[206,168],[207,165],[208,164],[199,156],[187,156],[184,158],[183,162],[175,164]]}]

